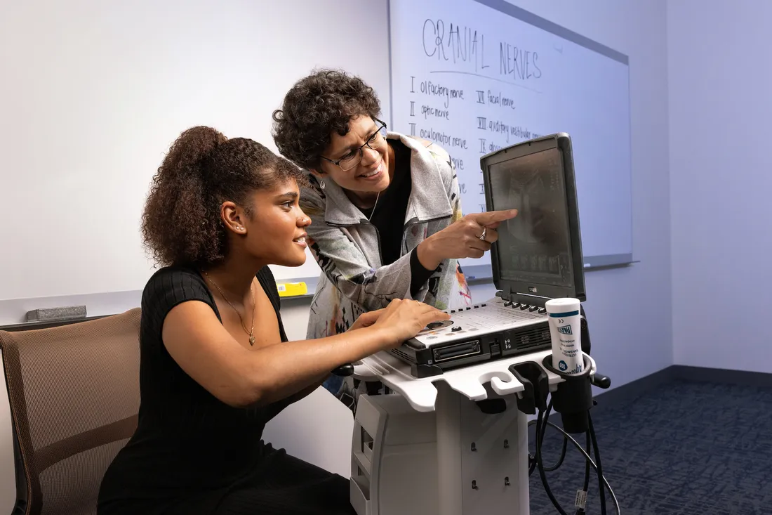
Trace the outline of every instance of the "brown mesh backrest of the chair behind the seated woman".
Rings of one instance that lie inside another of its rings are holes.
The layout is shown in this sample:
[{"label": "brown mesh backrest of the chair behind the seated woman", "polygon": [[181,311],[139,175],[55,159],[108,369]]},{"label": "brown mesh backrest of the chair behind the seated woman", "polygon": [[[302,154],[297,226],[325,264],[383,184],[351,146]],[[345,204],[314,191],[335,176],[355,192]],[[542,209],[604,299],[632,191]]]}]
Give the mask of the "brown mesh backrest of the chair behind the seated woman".
[{"label": "brown mesh backrest of the chair behind the seated woman", "polygon": [[[104,472],[137,427],[140,309],[0,331],[23,477],[15,513],[97,513]],[[25,492],[24,492],[25,490]]]}]

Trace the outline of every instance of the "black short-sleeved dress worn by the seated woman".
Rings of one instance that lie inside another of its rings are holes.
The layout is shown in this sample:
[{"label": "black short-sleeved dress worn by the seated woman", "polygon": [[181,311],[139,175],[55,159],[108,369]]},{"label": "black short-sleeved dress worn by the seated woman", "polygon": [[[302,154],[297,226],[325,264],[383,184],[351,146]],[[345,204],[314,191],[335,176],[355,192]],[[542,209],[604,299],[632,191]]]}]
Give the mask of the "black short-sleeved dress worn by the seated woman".
[{"label": "black short-sleeved dress worn by the seated woman", "polygon": [[[268,267],[257,278],[279,319]],[[232,408],[209,394],[171,358],[161,341],[168,312],[198,300],[220,314],[193,268],[157,271],[142,295],[141,407],[137,431],[107,469],[99,515],[350,515],[348,480],[262,441],[266,422],[289,401]],[[255,328],[256,331],[259,328]]]}]

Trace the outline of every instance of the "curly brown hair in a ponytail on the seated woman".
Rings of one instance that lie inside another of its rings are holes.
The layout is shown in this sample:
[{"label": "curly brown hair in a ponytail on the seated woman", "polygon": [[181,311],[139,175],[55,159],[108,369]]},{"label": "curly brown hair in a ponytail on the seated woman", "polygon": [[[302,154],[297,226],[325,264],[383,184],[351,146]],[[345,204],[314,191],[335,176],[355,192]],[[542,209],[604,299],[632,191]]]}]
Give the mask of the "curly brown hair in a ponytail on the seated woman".
[{"label": "curly brown hair in a ponytail on the seated woman", "polygon": [[305,182],[295,165],[247,138],[209,127],[184,131],[158,168],[142,214],[144,244],[160,264],[207,267],[225,258],[220,206],[230,200],[251,216],[249,193],[287,179]]}]

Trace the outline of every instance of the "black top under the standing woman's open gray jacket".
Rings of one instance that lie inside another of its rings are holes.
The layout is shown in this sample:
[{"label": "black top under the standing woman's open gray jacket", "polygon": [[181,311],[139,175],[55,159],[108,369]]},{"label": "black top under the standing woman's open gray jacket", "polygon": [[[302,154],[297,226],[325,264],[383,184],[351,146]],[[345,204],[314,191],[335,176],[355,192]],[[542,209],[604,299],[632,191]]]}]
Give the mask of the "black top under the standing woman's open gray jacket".
[{"label": "black top under the standing woman's open gray jacket", "polygon": [[[402,256],[402,240],[405,234],[405,213],[408,210],[408,199],[412,190],[410,173],[411,150],[398,140],[389,140],[394,150],[394,176],[391,184],[378,197],[374,208],[361,208],[365,217],[371,217],[372,223],[378,229],[381,244],[382,264],[391,264]],[[412,249],[410,257],[411,285],[410,293],[415,296],[422,285],[428,281],[434,270],[427,270],[418,261],[418,252]]]}]

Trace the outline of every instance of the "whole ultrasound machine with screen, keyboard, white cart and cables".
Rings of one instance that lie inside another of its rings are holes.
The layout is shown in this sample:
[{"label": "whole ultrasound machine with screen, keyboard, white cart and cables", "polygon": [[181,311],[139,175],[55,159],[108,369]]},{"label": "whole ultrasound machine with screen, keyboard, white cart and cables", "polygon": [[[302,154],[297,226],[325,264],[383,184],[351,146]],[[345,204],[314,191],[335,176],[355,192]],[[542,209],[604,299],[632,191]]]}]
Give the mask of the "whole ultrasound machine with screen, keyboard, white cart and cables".
[{"label": "whole ultrasound machine with screen, keyboard, white cart and cables", "polygon": [[[584,309],[584,372],[571,376],[551,366],[545,303],[586,300],[571,138],[520,142],[482,156],[480,165],[487,210],[519,210],[499,225],[491,248],[496,296],[449,309],[450,320],[354,367],[355,377],[393,392],[363,394],[357,402],[350,492],[359,515],[524,515],[537,468],[565,513],[540,454],[552,410],[567,441],[587,459],[595,452],[591,464],[605,486],[598,494],[602,513],[606,491],[615,500],[597,442],[585,450],[571,437],[594,441],[591,385],[609,384],[590,356]],[[528,448],[529,414],[538,414],[535,454]],[[573,513],[584,513],[587,474]]]}]

